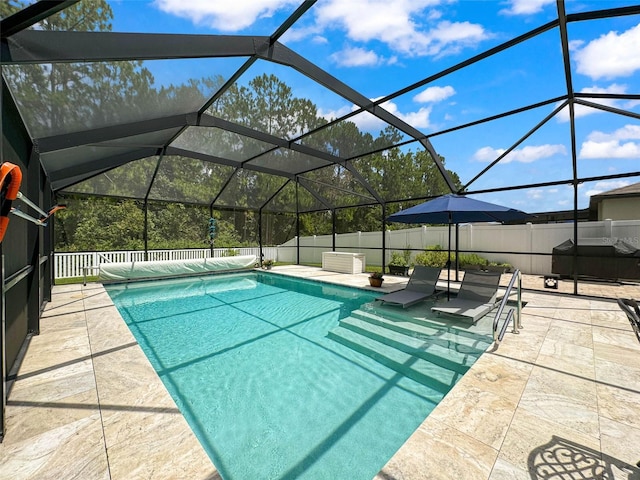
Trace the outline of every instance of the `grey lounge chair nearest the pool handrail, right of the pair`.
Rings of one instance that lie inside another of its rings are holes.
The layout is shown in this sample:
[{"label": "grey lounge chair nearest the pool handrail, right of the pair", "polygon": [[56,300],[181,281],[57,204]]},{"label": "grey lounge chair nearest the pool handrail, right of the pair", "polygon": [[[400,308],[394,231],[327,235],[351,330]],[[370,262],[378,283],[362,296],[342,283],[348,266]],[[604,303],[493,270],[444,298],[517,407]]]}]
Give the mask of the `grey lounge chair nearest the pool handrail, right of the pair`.
[{"label": "grey lounge chair nearest the pool handrail, right of the pair", "polygon": [[468,318],[475,323],[495,306],[499,283],[499,273],[467,271],[456,298],[437,303],[431,311]]}]

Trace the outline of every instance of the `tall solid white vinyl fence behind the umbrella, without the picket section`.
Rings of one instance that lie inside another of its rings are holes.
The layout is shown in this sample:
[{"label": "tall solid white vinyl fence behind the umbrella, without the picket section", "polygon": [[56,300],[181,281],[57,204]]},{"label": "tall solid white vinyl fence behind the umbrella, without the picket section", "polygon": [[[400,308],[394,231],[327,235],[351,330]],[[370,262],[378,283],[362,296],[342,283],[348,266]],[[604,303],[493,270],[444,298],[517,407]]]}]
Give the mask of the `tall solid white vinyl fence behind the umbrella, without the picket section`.
[{"label": "tall solid white vinyl fence behind the umbrella, without the picket section", "polygon": [[[458,248],[461,252],[476,252],[492,262],[510,263],[523,273],[545,275],[551,273],[553,248],[567,240],[574,240],[573,223],[500,225],[488,223],[464,224],[458,229]],[[455,250],[456,229],[451,229],[451,248]],[[412,257],[433,245],[448,248],[447,226],[423,226],[385,233],[386,261],[391,252],[409,248]],[[640,221],[604,220],[578,223],[578,243],[611,245],[624,240],[640,248]],[[331,235],[300,237],[300,248],[294,238],[278,247],[278,260],[300,263],[321,263],[322,252],[332,249]],[[367,265],[382,264],[381,232],[356,232],[337,234],[335,250],[363,253]]]}]

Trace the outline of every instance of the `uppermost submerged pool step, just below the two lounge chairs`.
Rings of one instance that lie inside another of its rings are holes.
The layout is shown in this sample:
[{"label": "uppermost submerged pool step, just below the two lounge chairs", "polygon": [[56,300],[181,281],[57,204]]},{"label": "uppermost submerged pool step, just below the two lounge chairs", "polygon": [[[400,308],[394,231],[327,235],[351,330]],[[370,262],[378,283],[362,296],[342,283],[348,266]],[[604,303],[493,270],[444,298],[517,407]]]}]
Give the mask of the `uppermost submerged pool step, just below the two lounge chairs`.
[{"label": "uppermost submerged pool step, just below the two lounge chairs", "polygon": [[[491,344],[491,337],[456,328],[443,328],[436,323],[416,323],[406,318],[387,318],[375,313],[355,310],[353,318],[363,320],[394,332],[420,339],[423,343],[440,346],[458,353],[481,355]],[[426,345],[425,345],[426,347]]]}]

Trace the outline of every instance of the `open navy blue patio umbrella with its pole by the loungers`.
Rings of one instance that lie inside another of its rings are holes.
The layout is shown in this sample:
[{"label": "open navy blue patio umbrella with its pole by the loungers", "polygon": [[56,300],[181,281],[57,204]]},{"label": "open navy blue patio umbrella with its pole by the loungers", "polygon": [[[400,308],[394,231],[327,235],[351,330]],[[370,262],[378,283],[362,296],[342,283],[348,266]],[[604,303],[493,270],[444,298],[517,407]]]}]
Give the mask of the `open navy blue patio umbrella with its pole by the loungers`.
[{"label": "open navy blue patio umbrella with its pole by the loungers", "polygon": [[521,210],[450,193],[389,215],[387,221],[449,225],[449,255],[447,260],[447,298],[449,298],[451,225],[472,222],[503,223],[514,220],[524,220],[528,217],[530,217],[530,215]]}]

